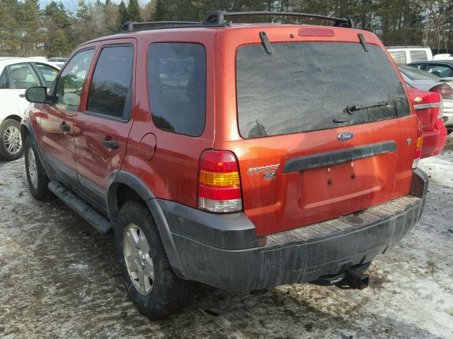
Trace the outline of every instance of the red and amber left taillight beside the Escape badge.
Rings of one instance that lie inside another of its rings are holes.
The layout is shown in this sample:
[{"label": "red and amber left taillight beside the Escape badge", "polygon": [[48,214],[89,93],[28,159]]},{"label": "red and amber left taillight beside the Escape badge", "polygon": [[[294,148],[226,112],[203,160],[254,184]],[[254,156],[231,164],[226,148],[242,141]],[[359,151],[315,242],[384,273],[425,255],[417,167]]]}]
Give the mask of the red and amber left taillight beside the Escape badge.
[{"label": "red and amber left taillight beside the Escape badge", "polygon": [[238,160],[227,150],[206,150],[200,157],[198,208],[215,213],[242,210]]}]

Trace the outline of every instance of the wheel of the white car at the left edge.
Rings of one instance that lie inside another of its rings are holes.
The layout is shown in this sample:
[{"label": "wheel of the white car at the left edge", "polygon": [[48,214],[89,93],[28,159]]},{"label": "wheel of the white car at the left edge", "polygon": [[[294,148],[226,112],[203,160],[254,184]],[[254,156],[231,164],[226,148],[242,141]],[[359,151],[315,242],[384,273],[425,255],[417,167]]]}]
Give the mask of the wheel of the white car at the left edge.
[{"label": "wheel of the white car at the left edge", "polygon": [[13,161],[22,155],[21,123],[6,119],[0,125],[0,160]]}]

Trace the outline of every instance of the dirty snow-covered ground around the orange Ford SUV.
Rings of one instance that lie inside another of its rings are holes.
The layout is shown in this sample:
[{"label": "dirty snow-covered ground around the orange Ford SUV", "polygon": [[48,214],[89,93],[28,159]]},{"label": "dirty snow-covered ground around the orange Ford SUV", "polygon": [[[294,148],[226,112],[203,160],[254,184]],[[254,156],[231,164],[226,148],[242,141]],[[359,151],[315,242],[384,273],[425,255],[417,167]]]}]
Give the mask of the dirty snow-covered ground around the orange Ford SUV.
[{"label": "dirty snow-covered ground around the orange Ford SUV", "polygon": [[113,236],[34,201],[23,159],[0,162],[0,338],[453,338],[453,139],[420,167],[423,218],[372,263],[369,288],[202,287],[181,314],[149,321],[127,297]]}]

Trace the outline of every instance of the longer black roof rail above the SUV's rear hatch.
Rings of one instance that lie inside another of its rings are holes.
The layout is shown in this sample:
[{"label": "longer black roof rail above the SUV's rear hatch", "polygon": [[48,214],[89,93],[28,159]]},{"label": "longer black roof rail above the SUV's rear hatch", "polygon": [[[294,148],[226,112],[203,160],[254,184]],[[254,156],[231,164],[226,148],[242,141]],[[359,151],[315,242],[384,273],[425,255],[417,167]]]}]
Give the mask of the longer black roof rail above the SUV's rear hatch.
[{"label": "longer black roof rail above the SUV's rear hatch", "polygon": [[354,28],[354,23],[350,18],[334,18],[333,16],[319,16],[309,13],[293,13],[293,12],[273,12],[273,11],[254,11],[254,12],[225,12],[212,11],[203,21],[203,26],[222,26],[228,25],[225,22],[226,16],[294,16],[297,18],[314,18],[330,20],[334,22],[336,27]]}]

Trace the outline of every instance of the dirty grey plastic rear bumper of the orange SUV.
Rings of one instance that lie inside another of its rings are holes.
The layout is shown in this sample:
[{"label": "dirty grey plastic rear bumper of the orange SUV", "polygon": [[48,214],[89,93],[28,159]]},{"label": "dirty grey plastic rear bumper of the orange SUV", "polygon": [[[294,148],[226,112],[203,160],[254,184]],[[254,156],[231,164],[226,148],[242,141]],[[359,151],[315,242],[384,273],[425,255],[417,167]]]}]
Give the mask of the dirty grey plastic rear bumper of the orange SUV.
[{"label": "dirty grey plastic rear bumper of the orange SUV", "polygon": [[413,173],[410,195],[260,239],[243,213],[213,215],[178,203],[159,204],[183,266],[181,278],[223,290],[258,290],[336,275],[394,246],[418,221],[425,203],[428,176],[420,169]]}]

